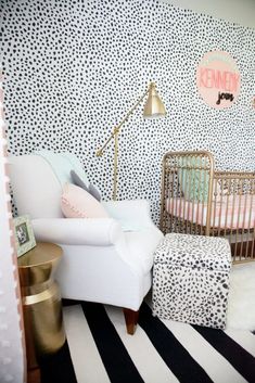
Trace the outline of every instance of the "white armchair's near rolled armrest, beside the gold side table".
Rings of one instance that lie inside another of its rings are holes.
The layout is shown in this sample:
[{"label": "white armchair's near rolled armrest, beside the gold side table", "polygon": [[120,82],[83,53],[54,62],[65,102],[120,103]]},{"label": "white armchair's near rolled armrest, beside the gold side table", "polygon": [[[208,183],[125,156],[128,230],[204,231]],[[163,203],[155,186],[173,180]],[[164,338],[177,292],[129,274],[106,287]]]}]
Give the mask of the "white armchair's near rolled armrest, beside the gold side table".
[{"label": "white armchair's near rolled armrest, beside the gold side table", "polygon": [[36,218],[31,225],[38,241],[67,245],[110,246],[123,235],[113,218]]}]

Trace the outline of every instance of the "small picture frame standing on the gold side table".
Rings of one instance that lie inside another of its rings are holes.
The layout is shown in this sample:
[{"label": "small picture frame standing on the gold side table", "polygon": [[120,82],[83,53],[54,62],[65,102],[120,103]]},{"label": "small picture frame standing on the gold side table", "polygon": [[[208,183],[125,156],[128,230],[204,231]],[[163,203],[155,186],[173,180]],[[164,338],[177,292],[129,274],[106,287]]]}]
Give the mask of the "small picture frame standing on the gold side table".
[{"label": "small picture frame standing on the gold side table", "polygon": [[36,246],[36,239],[29,216],[21,216],[13,219],[17,257]]}]

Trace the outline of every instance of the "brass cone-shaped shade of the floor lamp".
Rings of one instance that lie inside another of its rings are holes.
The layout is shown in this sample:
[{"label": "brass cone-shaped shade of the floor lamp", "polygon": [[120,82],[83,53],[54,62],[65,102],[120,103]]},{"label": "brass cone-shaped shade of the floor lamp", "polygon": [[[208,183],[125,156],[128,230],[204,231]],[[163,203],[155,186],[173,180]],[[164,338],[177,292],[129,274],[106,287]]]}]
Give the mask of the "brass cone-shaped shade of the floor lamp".
[{"label": "brass cone-shaped shade of the floor lamp", "polygon": [[143,110],[144,118],[156,118],[166,115],[165,105],[163,104],[156,91],[156,85],[150,84],[148,100]]}]

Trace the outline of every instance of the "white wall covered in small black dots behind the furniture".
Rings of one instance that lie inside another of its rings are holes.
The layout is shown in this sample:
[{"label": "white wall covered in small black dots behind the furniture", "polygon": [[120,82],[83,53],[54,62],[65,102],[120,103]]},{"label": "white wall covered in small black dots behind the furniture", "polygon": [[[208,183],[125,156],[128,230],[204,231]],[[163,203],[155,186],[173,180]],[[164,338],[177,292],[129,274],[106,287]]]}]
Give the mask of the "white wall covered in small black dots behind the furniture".
[{"label": "white wall covered in small black dots behind the furniture", "polygon": [[[218,168],[255,168],[255,30],[154,0],[2,0],[2,64],[10,152],[76,153],[104,199],[113,144],[95,151],[144,92],[157,85],[167,117],[139,107],[119,137],[119,197],[145,197],[155,220],[166,151],[204,149]],[[227,110],[195,85],[205,52],[237,61],[241,91]]]}]

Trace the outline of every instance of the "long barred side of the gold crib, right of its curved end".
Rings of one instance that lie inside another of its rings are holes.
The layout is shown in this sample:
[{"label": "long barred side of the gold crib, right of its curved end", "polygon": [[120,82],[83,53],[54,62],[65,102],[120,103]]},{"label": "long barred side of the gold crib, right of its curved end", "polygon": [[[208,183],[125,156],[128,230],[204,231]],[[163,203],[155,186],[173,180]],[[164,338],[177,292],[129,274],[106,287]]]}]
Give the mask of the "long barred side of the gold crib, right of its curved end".
[{"label": "long barred side of the gold crib, right of its curved end", "polygon": [[228,238],[233,261],[255,260],[255,174],[215,171],[212,235]]}]

